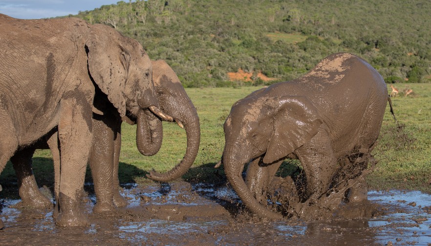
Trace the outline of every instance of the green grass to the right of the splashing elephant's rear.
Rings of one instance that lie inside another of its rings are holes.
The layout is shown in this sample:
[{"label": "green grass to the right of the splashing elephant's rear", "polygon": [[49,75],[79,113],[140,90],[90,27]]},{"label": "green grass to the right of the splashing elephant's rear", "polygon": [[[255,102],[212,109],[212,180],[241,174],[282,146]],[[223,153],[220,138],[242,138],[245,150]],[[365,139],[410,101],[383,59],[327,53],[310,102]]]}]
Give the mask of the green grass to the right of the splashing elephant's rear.
[{"label": "green grass to the right of the splashing elephant's rear", "polygon": [[368,183],[376,189],[418,189],[430,193],[431,84],[397,84],[395,87],[400,93],[406,87],[413,89],[412,96],[391,98],[397,120],[405,127],[398,133],[387,109],[379,143],[373,152],[380,161]]}]

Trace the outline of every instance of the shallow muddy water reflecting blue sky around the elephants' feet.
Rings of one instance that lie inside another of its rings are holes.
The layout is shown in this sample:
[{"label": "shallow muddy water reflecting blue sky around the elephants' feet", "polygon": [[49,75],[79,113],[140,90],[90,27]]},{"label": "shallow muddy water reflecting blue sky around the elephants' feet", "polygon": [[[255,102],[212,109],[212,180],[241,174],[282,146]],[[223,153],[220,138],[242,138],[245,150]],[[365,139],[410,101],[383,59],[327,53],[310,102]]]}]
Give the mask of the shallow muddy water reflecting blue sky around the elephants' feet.
[{"label": "shallow muddy water reflecting blue sky around the elephants' feet", "polygon": [[[184,185],[185,182],[180,183]],[[235,192],[227,186],[214,187],[208,184],[194,184],[188,187],[174,186],[172,184],[153,185],[145,188],[129,184],[124,188],[122,195],[127,197],[129,205],[126,211],[132,214],[133,209],[146,208],[150,205],[157,207],[172,206],[192,207],[186,212],[201,211],[202,207],[212,209],[216,203],[239,201]],[[187,186],[185,185],[185,186]],[[147,199],[145,202],[143,198]],[[179,199],[180,198],[180,199]],[[90,214],[94,203],[86,203],[86,210]],[[139,242],[157,243],[158,238],[163,242],[182,245],[187,242],[186,235],[210,235],[213,244],[235,245],[272,243],[282,245],[286,242],[297,245],[386,245],[392,243],[428,245],[431,242],[431,214],[424,207],[431,205],[431,196],[418,191],[370,191],[368,200],[378,203],[387,209],[387,214],[372,219],[357,220],[328,220],[314,222],[261,222],[261,223],[237,223],[227,217],[212,216],[201,217],[196,214],[185,214],[184,217],[173,220],[160,218],[151,219],[125,219],[121,216],[93,219],[92,224],[84,229],[84,233],[96,237],[101,232],[109,232],[115,237],[121,238],[129,244]],[[35,232],[47,232],[52,234],[64,233],[65,229],[55,226],[52,219],[52,210],[26,211],[11,206],[19,200],[5,200],[3,202],[0,218],[6,226],[20,226],[20,222],[31,221]],[[197,208],[200,207],[201,210]],[[147,208],[148,209],[148,208]],[[163,210],[163,211],[171,211]],[[154,210],[156,211],[156,210]],[[162,211],[162,210],[159,210]],[[157,212],[157,211],[156,211]],[[156,213],[155,212],[155,213]],[[196,212],[199,213],[199,212]],[[168,217],[169,218],[169,217]],[[103,223],[100,223],[103,220]],[[108,221],[108,222],[107,222]],[[235,224],[236,223],[236,224]],[[290,223],[290,224],[289,224]],[[234,226],[233,226],[234,225]],[[69,231],[72,231],[69,229]],[[82,231],[81,231],[82,232]],[[177,237],[183,237],[183,241],[174,241]],[[185,237],[185,238],[184,238]]]}]

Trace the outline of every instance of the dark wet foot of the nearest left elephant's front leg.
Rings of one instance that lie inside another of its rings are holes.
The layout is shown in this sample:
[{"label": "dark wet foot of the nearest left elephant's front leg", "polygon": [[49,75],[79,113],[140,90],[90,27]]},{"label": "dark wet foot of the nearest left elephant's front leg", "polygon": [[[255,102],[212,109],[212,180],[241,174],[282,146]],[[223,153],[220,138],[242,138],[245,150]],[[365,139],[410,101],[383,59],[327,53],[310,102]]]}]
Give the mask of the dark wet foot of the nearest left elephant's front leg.
[{"label": "dark wet foot of the nearest left elephant's front leg", "polygon": [[88,217],[82,211],[79,199],[71,199],[60,194],[60,213],[56,224],[60,226],[86,226],[89,224]]}]

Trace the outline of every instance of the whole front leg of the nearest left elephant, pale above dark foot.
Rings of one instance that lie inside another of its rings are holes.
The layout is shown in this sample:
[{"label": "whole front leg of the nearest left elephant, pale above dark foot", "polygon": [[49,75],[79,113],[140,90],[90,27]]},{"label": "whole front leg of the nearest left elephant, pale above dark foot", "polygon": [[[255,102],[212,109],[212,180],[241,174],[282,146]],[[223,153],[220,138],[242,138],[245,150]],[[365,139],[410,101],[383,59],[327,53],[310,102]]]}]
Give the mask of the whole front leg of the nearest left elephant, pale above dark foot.
[{"label": "whole front leg of the nearest left elephant, pale above dark foot", "polygon": [[88,218],[82,209],[81,196],[93,138],[90,117],[92,98],[86,98],[91,92],[80,91],[80,88],[70,94],[60,103],[60,213],[56,223],[62,226],[79,226],[88,224]]}]

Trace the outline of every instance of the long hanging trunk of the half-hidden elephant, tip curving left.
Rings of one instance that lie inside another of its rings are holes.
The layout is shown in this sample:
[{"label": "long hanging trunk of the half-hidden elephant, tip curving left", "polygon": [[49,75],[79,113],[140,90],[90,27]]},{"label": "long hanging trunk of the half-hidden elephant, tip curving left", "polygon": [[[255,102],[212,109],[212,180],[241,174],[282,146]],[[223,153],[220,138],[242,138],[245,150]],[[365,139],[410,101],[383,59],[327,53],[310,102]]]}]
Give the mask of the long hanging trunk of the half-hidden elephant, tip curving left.
[{"label": "long hanging trunk of the half-hidden elephant, tip curving left", "polygon": [[161,174],[151,171],[150,174],[147,175],[149,179],[160,182],[168,182],[177,179],[185,174],[193,164],[199,150],[200,125],[199,117],[197,116],[194,106],[192,105],[187,111],[192,112],[192,115],[186,117],[186,120],[182,122],[187,135],[187,149],[184,158],[166,173]]}]

